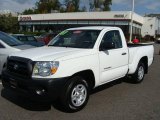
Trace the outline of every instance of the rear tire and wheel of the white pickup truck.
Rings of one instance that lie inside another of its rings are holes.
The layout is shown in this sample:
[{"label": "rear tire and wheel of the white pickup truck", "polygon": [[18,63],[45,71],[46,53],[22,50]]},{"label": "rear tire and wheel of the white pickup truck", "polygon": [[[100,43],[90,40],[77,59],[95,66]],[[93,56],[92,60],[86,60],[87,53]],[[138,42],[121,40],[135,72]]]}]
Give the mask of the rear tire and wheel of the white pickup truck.
[{"label": "rear tire and wheel of the white pickup truck", "polygon": [[136,72],[131,76],[133,83],[141,83],[145,76],[145,66],[144,63],[140,62],[136,69]]}]

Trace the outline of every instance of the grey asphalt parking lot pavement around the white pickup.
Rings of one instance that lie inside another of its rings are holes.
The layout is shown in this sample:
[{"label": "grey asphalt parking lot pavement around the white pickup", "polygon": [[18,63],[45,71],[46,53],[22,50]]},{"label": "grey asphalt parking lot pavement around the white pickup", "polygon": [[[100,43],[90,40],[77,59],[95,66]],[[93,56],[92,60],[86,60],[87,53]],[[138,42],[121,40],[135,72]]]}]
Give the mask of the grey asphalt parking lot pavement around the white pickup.
[{"label": "grey asphalt parking lot pavement around the white pickup", "polygon": [[141,84],[117,80],[97,88],[88,105],[77,113],[65,113],[60,106],[29,101],[3,89],[0,82],[1,120],[159,120],[160,44],[155,60]]}]

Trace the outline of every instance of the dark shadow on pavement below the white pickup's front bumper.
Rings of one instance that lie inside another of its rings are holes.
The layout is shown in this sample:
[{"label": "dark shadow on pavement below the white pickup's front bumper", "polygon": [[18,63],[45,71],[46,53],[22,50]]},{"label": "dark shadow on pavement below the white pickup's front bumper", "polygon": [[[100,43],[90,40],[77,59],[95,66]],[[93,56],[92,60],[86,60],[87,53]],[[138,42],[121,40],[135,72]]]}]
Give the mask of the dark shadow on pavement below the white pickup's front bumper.
[{"label": "dark shadow on pavement below the white pickup's front bumper", "polygon": [[2,89],[1,96],[7,99],[8,101],[30,111],[48,111],[51,109],[51,104],[42,103],[37,101],[31,101],[28,98],[19,96],[8,89]]}]

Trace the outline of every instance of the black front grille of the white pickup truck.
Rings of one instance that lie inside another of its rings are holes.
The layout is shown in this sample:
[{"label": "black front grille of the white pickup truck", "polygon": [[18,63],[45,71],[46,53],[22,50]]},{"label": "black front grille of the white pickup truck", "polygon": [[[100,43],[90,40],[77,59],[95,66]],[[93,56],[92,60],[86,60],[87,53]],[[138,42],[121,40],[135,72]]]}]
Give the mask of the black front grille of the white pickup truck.
[{"label": "black front grille of the white pickup truck", "polygon": [[32,62],[26,58],[9,57],[7,60],[7,69],[10,73],[17,76],[29,78],[32,73]]}]

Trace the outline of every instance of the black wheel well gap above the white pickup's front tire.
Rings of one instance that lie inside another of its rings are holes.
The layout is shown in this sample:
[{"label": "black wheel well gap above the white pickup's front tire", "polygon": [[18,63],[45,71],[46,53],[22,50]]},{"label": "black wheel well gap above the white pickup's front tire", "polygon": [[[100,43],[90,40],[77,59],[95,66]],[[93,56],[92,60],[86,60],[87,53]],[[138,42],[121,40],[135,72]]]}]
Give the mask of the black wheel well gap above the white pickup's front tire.
[{"label": "black wheel well gap above the white pickup's front tire", "polygon": [[84,70],[75,73],[73,76],[80,76],[85,79],[91,89],[95,86],[95,77],[92,70]]}]

